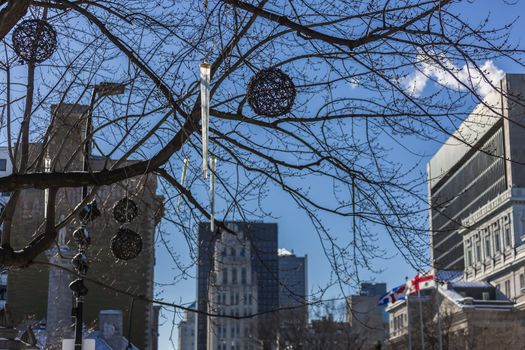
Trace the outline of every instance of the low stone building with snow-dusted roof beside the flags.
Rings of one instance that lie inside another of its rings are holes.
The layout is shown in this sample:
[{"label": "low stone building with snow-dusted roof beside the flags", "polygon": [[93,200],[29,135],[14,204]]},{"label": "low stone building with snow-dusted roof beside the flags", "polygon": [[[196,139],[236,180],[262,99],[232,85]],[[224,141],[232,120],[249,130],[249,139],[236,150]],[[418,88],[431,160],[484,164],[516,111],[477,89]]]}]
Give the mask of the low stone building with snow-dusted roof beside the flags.
[{"label": "low stone building with snow-dusted roof beside the flags", "polygon": [[487,282],[447,282],[387,310],[393,350],[521,349],[525,341],[525,314]]}]

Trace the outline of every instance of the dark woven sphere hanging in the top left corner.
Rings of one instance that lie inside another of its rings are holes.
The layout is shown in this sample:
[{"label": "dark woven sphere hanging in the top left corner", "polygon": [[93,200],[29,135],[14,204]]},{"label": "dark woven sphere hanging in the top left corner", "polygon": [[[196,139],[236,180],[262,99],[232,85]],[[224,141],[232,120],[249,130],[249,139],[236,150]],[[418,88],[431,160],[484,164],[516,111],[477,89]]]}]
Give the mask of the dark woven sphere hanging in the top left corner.
[{"label": "dark woven sphere hanging in the top left corner", "polygon": [[25,62],[44,62],[57,48],[55,29],[41,19],[28,19],[17,25],[12,40],[16,54]]}]

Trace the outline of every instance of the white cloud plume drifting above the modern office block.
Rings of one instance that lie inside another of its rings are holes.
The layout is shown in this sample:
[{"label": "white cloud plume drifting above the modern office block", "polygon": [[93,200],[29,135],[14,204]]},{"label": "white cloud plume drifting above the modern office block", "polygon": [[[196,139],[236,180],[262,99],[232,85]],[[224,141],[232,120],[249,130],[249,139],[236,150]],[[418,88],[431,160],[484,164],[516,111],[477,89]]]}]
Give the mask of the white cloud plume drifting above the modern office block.
[{"label": "white cloud plume drifting above the modern office block", "polygon": [[459,68],[444,55],[438,56],[437,59],[442,66],[428,56],[418,55],[418,69],[401,82],[402,87],[411,95],[419,97],[428,80],[432,78],[445,87],[458,91],[464,91],[468,87],[476,90],[481,97],[485,97],[493,89],[490,83],[497,83],[505,75],[505,72],[496,67],[492,60],[485,61],[478,70],[467,64]]}]

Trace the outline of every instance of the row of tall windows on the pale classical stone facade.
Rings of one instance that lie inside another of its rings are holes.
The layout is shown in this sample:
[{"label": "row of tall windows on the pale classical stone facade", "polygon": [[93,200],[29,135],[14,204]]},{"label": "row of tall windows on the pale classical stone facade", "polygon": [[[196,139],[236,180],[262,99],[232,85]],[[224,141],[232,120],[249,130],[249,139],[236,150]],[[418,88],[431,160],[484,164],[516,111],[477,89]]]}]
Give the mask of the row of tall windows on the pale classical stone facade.
[{"label": "row of tall windows on the pale classical stone facade", "polygon": [[[503,226],[503,233],[501,226]],[[506,215],[501,225],[500,222],[495,222],[465,240],[465,264],[470,266],[481,262],[511,246],[510,218]]]}]

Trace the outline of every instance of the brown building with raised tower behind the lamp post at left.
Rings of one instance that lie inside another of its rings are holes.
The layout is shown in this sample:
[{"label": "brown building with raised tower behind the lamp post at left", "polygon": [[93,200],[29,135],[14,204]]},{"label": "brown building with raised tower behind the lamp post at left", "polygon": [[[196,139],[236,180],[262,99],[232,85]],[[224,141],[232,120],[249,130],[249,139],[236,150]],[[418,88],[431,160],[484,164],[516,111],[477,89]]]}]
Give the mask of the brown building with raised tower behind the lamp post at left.
[{"label": "brown building with raised tower behind the lamp post at left", "polygon": [[[52,114],[55,123],[50,133],[51,142],[45,148],[43,144],[31,144],[29,150],[30,163],[36,170],[76,171],[82,169],[82,152],[78,151],[82,147],[86,111],[87,106],[81,105],[53,106]],[[37,159],[42,159],[42,161],[33,162]],[[111,166],[111,163],[111,160],[96,157],[89,160],[91,169],[103,169]],[[89,293],[84,303],[84,322],[87,326],[97,322],[101,309],[124,310],[123,322],[128,325],[131,299],[116,290],[153,297],[154,232],[162,206],[161,198],[156,194],[156,186],[156,178],[152,175],[132,178],[97,189],[96,199],[103,215],[88,226],[91,234],[91,245],[87,251],[90,258],[88,278],[98,280],[114,289],[103,288],[87,281]],[[126,262],[116,260],[110,250],[110,239],[119,227],[112,218],[111,208],[116,201],[125,196],[131,197],[139,207],[138,217],[128,227],[139,232],[143,240],[141,254],[136,259]],[[59,198],[57,216],[65,216],[80,202],[81,190],[61,189],[57,198]],[[12,245],[14,249],[19,249],[27,244],[44,221],[44,203],[45,191],[43,190],[27,189],[21,192],[13,217]],[[76,250],[75,243],[70,237],[78,226],[77,222],[72,222],[65,227],[61,234],[63,246],[61,249],[69,247],[72,251]],[[50,250],[47,256],[42,254],[38,259],[57,262],[57,253],[58,251]],[[67,264],[67,261],[60,263]],[[67,278],[63,273],[58,273],[45,265],[31,265],[23,270],[10,271],[7,299],[14,322],[21,324],[31,317],[33,319],[48,318],[50,321],[65,319],[71,324],[69,303],[72,294],[62,288],[66,283]],[[152,325],[155,322],[153,306],[136,300],[131,327],[133,344],[140,349],[152,349],[156,343],[153,339],[156,337],[156,332],[152,331]],[[124,327],[123,332],[128,336],[127,326]]]}]

